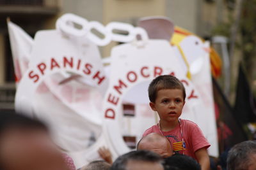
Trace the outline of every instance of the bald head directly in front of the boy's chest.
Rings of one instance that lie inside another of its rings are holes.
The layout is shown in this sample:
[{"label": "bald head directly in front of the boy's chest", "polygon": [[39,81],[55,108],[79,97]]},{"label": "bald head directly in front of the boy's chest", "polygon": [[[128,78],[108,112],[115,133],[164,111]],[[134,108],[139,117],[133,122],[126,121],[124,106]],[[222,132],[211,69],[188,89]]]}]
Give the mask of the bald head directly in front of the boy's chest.
[{"label": "bald head directly in front of the boy's chest", "polygon": [[157,133],[143,137],[138,143],[137,150],[150,150],[163,158],[173,155],[173,148],[168,139]]}]

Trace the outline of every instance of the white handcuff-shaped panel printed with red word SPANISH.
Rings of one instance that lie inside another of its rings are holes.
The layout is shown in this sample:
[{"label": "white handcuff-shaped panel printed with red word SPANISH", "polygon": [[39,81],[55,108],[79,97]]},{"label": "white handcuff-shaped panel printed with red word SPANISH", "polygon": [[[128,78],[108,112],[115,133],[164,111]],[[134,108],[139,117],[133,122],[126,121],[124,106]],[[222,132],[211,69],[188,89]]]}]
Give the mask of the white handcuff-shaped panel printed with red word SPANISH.
[{"label": "white handcuff-shaped panel printed with red word SPANISH", "polygon": [[[104,145],[103,140],[100,145],[97,141],[102,134],[100,108],[107,86],[97,46],[85,38],[40,31],[29,69],[17,89],[15,107],[47,122],[58,146],[81,166],[99,157],[97,148]],[[93,155],[88,155],[90,150]]]}]

